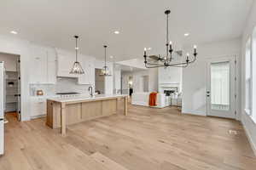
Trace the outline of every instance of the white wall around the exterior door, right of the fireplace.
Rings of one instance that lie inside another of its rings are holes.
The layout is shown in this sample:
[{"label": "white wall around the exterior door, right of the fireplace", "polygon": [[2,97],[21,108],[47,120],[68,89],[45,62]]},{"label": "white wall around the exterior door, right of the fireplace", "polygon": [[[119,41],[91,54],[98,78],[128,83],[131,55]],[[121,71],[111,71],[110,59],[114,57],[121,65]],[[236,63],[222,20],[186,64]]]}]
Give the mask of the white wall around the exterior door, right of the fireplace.
[{"label": "white wall around the exterior door, right of the fireplace", "polygon": [[[193,50],[192,47],[184,51]],[[198,45],[198,56],[192,65],[183,68],[183,106],[182,112],[206,116],[206,64],[207,58],[237,56],[241,52],[241,40],[212,42]],[[239,99],[238,94],[238,99]],[[240,108],[237,108],[240,112]]]}]

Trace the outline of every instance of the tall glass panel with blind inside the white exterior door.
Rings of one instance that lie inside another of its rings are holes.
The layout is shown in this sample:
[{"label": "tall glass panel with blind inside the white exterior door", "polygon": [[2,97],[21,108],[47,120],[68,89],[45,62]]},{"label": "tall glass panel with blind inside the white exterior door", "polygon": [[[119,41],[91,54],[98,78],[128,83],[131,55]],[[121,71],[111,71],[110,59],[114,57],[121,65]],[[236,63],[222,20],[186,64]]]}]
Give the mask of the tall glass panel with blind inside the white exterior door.
[{"label": "tall glass panel with blind inside the white exterior door", "polygon": [[211,109],[230,110],[230,62],[211,64]]}]

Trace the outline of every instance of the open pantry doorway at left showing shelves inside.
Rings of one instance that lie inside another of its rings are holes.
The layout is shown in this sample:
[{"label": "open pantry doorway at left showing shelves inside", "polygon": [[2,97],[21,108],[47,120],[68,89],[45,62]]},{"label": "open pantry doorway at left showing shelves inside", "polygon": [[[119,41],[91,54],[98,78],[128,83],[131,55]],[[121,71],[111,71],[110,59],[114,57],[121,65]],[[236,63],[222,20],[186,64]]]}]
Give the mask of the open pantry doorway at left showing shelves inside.
[{"label": "open pantry doorway at left showing shelves inside", "polygon": [[20,55],[0,53],[0,60],[5,68],[4,112],[20,121]]}]

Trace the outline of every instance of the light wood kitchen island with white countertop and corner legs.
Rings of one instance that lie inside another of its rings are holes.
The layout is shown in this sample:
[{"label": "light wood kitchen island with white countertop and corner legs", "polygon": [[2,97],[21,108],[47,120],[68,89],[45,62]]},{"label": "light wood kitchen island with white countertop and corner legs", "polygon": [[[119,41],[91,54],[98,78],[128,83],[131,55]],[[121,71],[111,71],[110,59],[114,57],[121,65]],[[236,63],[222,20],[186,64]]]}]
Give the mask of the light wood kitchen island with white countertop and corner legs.
[{"label": "light wood kitchen island with white countertop and corner legs", "polygon": [[95,96],[55,97],[47,99],[46,125],[61,127],[66,135],[67,125],[93,120],[118,113],[119,100],[124,99],[124,114],[127,115],[128,95],[99,94]]}]

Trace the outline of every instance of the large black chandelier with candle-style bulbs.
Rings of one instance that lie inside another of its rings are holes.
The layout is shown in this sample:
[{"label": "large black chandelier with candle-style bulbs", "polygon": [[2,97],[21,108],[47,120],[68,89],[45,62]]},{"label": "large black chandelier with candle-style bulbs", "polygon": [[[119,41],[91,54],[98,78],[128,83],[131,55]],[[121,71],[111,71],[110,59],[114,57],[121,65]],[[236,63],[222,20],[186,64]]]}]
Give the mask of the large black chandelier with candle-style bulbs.
[{"label": "large black chandelier with candle-style bulbs", "polygon": [[[193,57],[189,57],[189,53],[186,54],[186,57],[183,61],[177,62],[173,61],[172,53],[172,41],[169,42],[169,14],[171,14],[170,10],[165,11],[166,14],[166,55],[165,56],[147,56],[147,48],[144,48],[144,64],[146,68],[156,68],[156,67],[187,67],[189,64],[195,62],[196,59],[196,46],[194,46],[194,54]],[[149,58],[149,59],[148,59]]]}]

